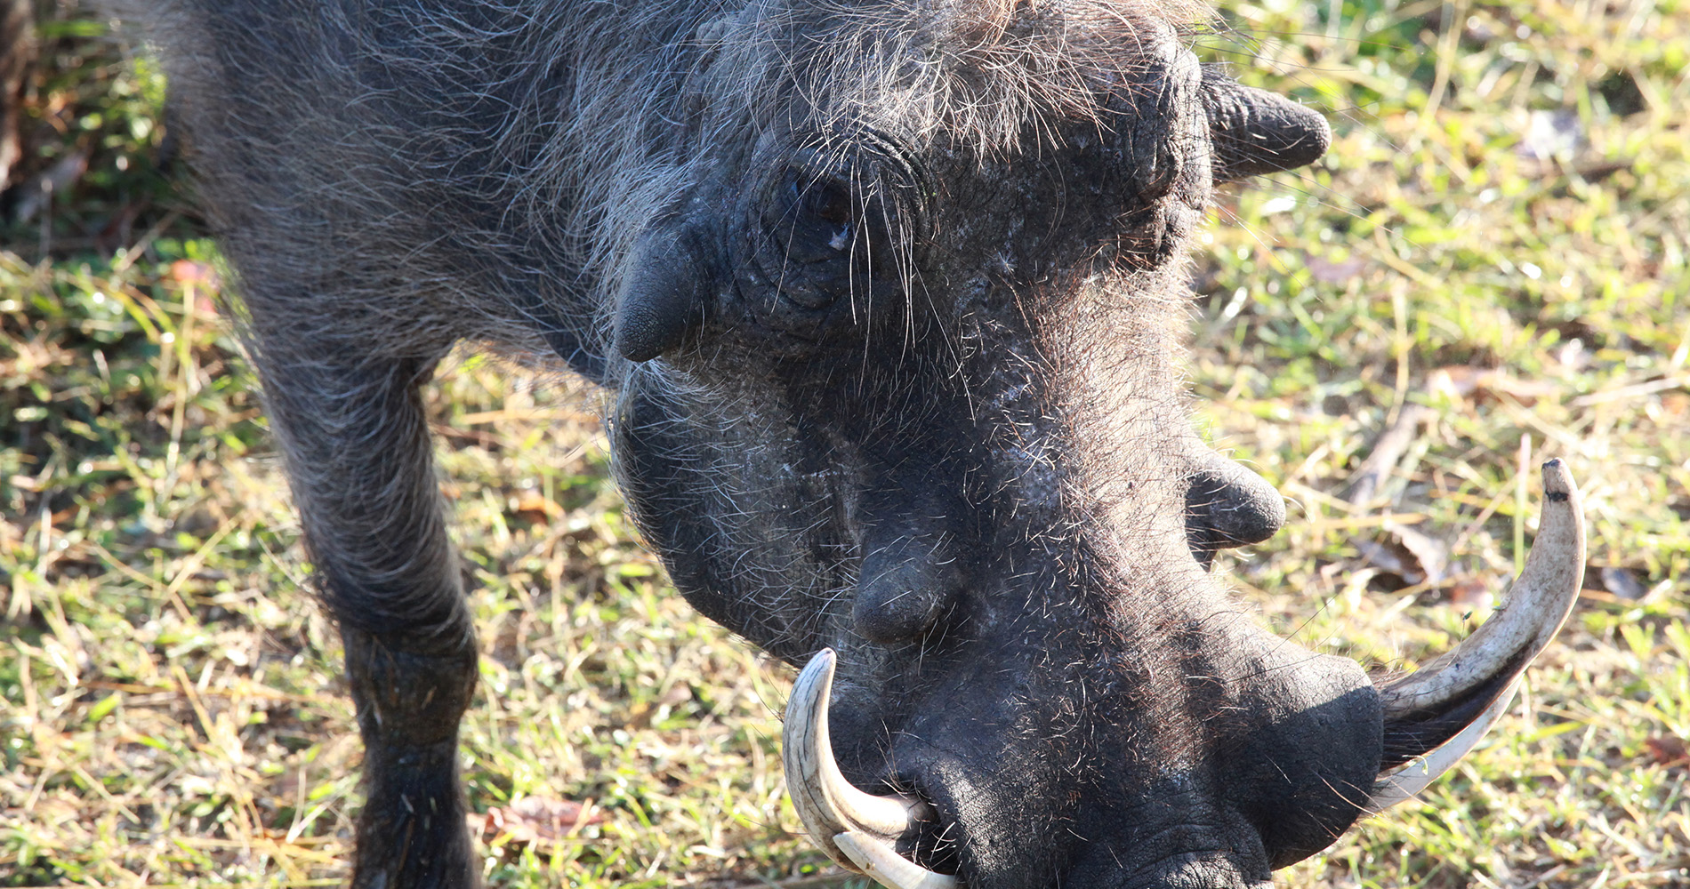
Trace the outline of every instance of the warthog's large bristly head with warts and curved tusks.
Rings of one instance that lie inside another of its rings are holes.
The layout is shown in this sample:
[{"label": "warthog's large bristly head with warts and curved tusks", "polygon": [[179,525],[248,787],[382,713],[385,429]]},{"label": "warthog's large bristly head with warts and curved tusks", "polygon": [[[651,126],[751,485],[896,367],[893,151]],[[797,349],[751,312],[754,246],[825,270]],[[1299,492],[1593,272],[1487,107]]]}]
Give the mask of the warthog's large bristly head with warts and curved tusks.
[{"label": "warthog's large bristly head with warts and curved tusks", "polygon": [[696,42],[612,439],[686,597],[810,663],[788,777],[835,860],[1254,886],[1470,747],[1575,588],[1558,466],[1529,595],[1442,669],[1369,678],[1207,575],[1283,507],[1190,429],[1185,250],[1318,115],[1110,0],[752,3]]}]

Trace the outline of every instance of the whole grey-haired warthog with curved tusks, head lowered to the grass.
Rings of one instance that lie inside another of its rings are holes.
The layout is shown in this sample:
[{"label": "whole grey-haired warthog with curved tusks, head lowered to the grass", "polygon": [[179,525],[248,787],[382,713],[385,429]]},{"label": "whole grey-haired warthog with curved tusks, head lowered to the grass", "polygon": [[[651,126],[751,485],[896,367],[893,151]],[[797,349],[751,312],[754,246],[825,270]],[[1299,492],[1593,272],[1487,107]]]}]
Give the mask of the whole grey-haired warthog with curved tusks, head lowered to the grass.
[{"label": "whole grey-haired warthog with curved tusks, head lowered to the grass", "polygon": [[613,392],[642,531],[810,664],[798,811],[886,886],[1266,884],[1465,752],[1575,595],[1558,463],[1509,607],[1408,676],[1207,575],[1284,514],[1190,428],[1183,255],[1330,137],[1180,0],[144,7],[345,641],[357,886],[477,881],[417,395],[460,341]]}]

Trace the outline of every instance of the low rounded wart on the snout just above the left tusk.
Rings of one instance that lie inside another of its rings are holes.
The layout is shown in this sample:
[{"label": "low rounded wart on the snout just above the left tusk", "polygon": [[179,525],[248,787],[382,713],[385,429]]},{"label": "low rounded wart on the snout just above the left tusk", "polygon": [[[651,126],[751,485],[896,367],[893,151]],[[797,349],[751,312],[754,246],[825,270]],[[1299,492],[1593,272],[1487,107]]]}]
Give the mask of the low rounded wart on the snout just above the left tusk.
[{"label": "low rounded wart on the snout just above the left tusk", "polygon": [[921,637],[962,585],[955,556],[930,537],[894,539],[862,559],[852,622],[880,644]]}]

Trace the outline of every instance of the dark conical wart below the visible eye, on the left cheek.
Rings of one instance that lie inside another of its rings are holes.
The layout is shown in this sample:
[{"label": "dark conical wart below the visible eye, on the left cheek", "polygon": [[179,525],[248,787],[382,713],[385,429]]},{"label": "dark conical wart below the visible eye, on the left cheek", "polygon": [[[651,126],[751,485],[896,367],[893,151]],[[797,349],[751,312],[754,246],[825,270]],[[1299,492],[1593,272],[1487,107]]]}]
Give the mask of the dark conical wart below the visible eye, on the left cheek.
[{"label": "dark conical wart below the visible eye, on the left cheek", "polygon": [[703,321],[705,269],[686,238],[666,228],[641,235],[617,296],[615,350],[649,362],[681,345]]}]

